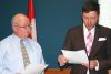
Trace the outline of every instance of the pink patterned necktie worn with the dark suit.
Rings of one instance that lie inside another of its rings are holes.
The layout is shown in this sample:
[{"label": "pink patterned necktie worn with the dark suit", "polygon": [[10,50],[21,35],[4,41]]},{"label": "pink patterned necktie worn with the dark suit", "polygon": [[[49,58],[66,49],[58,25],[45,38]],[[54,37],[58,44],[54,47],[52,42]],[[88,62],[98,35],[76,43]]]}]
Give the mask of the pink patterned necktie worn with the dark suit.
[{"label": "pink patterned necktie worn with the dark suit", "polygon": [[88,55],[90,54],[90,51],[91,51],[91,47],[92,47],[92,42],[93,42],[93,38],[92,38],[91,32],[89,31],[89,34],[88,34],[87,41],[85,41]]}]

